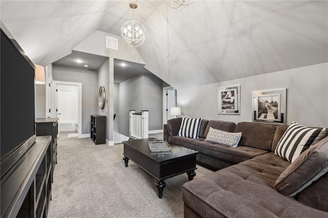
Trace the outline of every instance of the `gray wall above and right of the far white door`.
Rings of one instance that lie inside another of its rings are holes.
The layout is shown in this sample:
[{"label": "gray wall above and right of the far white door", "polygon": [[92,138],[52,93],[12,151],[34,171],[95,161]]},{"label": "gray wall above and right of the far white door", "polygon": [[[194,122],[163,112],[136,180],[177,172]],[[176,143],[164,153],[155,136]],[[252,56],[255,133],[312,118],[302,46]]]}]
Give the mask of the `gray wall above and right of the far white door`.
[{"label": "gray wall above and right of the far white door", "polygon": [[82,83],[82,134],[90,134],[90,116],[97,114],[98,73],[87,69],[53,66],[54,80]]}]

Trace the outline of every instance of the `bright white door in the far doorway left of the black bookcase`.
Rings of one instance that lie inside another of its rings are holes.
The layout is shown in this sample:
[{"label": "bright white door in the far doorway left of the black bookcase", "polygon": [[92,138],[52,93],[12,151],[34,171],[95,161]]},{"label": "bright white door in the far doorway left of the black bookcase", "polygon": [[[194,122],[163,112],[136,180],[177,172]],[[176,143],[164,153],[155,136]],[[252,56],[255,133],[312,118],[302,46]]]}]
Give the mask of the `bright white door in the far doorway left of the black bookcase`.
[{"label": "bright white door in the far doorway left of the black bookcase", "polygon": [[77,131],[78,86],[57,84],[57,111],[60,132]]}]

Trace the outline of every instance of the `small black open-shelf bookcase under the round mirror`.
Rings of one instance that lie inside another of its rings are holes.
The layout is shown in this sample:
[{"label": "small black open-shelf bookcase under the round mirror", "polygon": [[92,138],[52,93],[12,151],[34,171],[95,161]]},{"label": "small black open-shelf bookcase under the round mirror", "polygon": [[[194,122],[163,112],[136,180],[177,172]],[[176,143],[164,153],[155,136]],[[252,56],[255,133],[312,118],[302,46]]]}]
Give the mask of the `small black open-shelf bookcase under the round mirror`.
[{"label": "small black open-shelf bookcase under the round mirror", "polygon": [[106,144],[106,116],[91,115],[90,138],[95,144]]}]

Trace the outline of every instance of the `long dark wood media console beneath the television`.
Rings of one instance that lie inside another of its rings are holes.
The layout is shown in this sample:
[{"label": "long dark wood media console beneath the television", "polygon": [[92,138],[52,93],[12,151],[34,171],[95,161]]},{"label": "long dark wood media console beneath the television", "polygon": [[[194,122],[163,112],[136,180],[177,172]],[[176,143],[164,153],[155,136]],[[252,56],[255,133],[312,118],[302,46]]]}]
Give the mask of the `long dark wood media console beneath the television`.
[{"label": "long dark wood media console beneath the television", "polygon": [[47,217],[51,200],[51,136],[32,147],[1,178],[1,217]]}]

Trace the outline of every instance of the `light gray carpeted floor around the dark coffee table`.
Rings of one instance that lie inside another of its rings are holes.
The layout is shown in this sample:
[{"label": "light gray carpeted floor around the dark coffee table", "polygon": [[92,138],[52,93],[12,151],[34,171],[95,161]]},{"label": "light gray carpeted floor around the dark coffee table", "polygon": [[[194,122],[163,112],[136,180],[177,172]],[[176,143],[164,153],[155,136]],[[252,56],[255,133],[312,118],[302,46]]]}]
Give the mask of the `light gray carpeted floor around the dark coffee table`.
[{"label": "light gray carpeted floor around the dark coffee table", "polygon": [[[91,139],[60,133],[48,217],[183,217],[186,173],[165,180],[163,198],[156,180],[129,161],[123,145],[95,145]],[[196,177],[211,171],[197,165]]]}]

